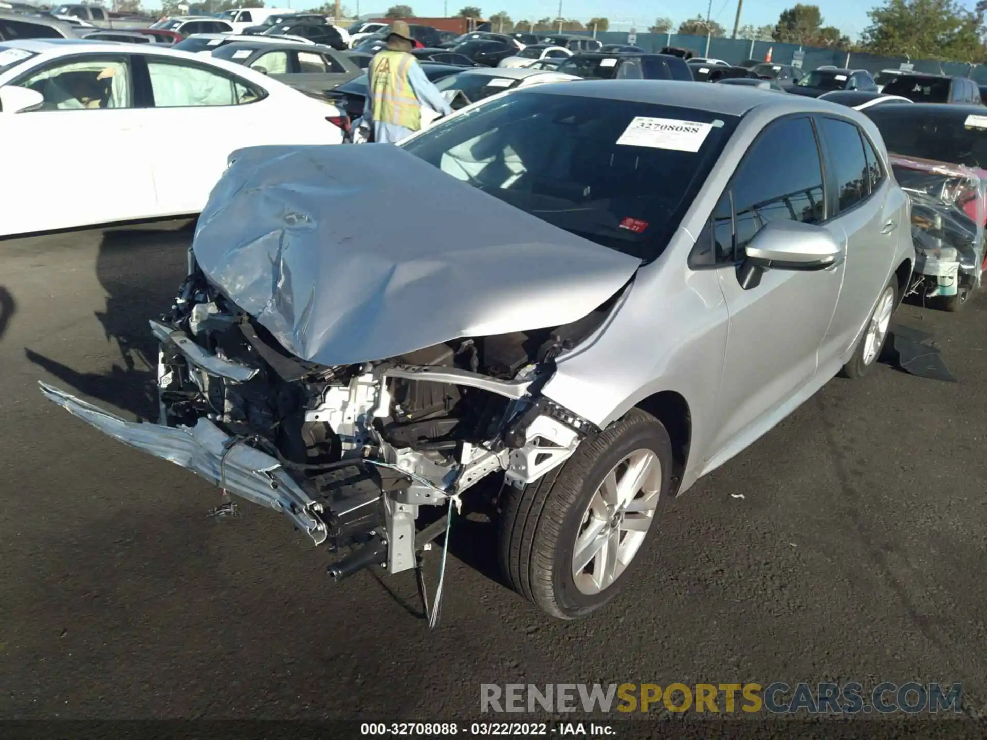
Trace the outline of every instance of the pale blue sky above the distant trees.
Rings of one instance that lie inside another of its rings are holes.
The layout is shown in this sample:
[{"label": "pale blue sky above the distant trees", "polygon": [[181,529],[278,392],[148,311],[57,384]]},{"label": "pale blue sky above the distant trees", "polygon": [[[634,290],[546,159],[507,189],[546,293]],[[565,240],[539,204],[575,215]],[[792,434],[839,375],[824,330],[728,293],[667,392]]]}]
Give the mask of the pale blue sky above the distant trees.
[{"label": "pale blue sky above the distant trees", "polygon": [[[381,3],[380,0],[360,0],[359,13],[374,13],[386,11],[393,2]],[[806,4],[811,0],[802,0]],[[455,15],[465,5],[478,5],[485,17],[490,17],[498,11],[506,11],[513,20],[528,19],[537,21],[539,18],[555,18],[559,13],[558,0],[495,0],[493,5],[485,2],[465,2],[465,0],[401,0],[412,6],[416,15],[421,18],[435,18]],[[791,8],[797,0],[744,0],[740,15],[740,25],[751,24],[764,26],[778,23],[782,11]],[[355,0],[344,0],[345,6],[356,12]],[[856,39],[871,25],[867,12],[873,5],[883,4],[880,0],[818,0],[816,3],[822,11],[824,26],[836,26],[847,36]],[[962,5],[972,9],[973,2],[965,0]],[[658,17],[671,18],[676,26],[697,15],[706,17],[709,0],[691,0],[674,5],[658,5],[641,2],[641,0],[563,0],[562,15],[587,21],[600,16],[610,20],[611,31],[627,31],[636,26],[639,33]],[[727,31],[733,28],[733,15],[736,13],[736,0],[713,0],[711,18],[717,21]]]}]

